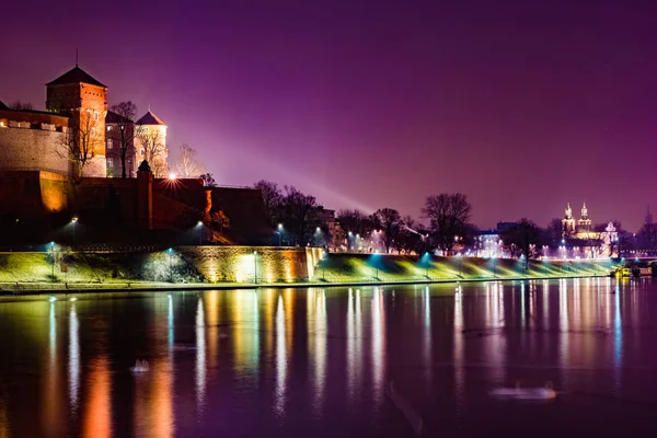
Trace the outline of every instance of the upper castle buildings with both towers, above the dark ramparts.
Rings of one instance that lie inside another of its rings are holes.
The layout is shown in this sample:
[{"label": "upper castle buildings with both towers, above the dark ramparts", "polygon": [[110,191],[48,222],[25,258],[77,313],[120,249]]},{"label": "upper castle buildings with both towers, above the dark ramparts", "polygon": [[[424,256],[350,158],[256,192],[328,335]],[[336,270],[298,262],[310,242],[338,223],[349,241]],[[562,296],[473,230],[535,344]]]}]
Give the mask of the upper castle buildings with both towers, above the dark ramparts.
[{"label": "upper castle buildings with both towers, above the dark ramparts", "polygon": [[0,102],[0,170],[49,171],[67,176],[120,176],[120,130],[126,176],[149,159],[155,177],[168,174],[166,125],[150,110],[137,122],[107,108],[107,87],[79,66],[46,83],[46,111],[12,110]]}]

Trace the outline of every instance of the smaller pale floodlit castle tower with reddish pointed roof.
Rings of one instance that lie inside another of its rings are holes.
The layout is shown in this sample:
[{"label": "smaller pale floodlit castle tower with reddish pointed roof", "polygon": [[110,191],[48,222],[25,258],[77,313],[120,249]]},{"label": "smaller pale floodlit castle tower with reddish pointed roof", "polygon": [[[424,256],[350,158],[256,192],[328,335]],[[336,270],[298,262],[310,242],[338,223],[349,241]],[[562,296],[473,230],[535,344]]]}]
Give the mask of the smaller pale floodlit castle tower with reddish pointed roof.
[{"label": "smaller pale floodlit castle tower with reddish pointed roof", "polygon": [[135,123],[135,163],[143,160],[150,164],[154,177],[166,177],[166,125],[150,110]]}]

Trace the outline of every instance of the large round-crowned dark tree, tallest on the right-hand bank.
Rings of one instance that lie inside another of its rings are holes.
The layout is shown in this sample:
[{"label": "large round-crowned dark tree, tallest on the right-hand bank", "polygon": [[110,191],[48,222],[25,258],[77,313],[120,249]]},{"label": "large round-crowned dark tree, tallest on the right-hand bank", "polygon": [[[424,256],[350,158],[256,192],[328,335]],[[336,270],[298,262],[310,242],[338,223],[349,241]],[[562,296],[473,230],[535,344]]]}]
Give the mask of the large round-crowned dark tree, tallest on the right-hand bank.
[{"label": "large round-crowned dark tree, tallest on the right-hand bank", "polygon": [[463,194],[442,193],[429,196],[422,212],[429,219],[429,230],[435,244],[447,254],[459,243],[456,238],[465,239],[472,230],[469,227],[472,206]]}]

